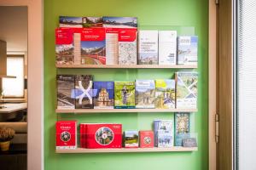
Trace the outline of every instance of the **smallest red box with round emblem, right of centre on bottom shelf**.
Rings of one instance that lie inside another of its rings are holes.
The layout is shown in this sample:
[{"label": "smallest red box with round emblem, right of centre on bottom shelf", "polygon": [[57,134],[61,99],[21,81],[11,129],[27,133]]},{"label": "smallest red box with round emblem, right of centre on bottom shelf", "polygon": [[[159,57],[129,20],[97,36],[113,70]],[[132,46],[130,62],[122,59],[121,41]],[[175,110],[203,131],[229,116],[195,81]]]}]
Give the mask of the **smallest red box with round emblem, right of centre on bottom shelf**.
[{"label": "smallest red box with round emblem, right of centre on bottom shelf", "polygon": [[141,148],[154,148],[154,132],[153,131],[140,131],[140,147]]}]

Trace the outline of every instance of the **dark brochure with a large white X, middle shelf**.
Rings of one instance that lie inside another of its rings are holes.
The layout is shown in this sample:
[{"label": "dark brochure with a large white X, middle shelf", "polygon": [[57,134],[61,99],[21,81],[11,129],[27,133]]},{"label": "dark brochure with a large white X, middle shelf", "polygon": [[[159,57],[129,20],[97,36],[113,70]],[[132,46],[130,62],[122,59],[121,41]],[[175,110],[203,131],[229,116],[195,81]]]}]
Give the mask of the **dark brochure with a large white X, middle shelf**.
[{"label": "dark brochure with a large white X, middle shelf", "polygon": [[92,90],[92,76],[91,75],[76,75],[75,77],[75,99],[76,109],[93,109]]}]

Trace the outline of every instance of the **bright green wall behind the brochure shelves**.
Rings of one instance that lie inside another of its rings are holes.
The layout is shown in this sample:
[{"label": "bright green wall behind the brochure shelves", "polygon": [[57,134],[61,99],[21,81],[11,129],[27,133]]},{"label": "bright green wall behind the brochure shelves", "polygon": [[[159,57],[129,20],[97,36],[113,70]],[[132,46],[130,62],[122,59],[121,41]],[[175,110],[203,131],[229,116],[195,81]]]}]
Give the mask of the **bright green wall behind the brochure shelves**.
[{"label": "bright green wall behind the brochure shelves", "polygon": [[[199,37],[198,109],[195,132],[198,151],[167,153],[55,154],[55,121],[119,122],[123,129],[150,129],[157,118],[172,118],[165,113],[113,113],[90,115],[55,114],[55,75],[93,74],[95,80],[134,80],[138,78],[170,78],[176,70],[90,69],[64,70],[55,68],[55,27],[59,15],[69,16],[137,16],[142,26],[157,29],[177,28],[179,33]],[[173,26],[173,27],[172,27]],[[208,1],[207,0],[45,0],[44,1],[44,166],[51,169],[176,169],[206,170],[208,167]],[[154,77],[152,77],[154,75]]]}]

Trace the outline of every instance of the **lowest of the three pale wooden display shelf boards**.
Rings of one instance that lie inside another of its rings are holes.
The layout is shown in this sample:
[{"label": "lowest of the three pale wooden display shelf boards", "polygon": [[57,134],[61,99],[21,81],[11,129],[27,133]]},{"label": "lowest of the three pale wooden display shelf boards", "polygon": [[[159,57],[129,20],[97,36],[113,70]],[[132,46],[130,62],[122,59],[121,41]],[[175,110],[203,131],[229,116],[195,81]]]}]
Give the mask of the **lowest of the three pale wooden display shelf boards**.
[{"label": "lowest of the three pale wooden display shelf boards", "polygon": [[55,150],[59,154],[75,154],[75,153],[131,153],[131,152],[177,152],[177,151],[196,151],[197,147],[187,148],[173,146],[172,148],[120,148],[120,149],[70,149],[70,150]]}]

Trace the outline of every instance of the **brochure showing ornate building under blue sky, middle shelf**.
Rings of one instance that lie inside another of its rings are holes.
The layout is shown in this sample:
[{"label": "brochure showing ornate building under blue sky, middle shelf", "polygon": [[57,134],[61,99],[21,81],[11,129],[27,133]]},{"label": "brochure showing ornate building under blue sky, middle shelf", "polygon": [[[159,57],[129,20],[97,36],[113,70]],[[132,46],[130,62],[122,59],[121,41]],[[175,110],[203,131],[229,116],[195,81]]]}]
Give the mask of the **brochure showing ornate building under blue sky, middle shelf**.
[{"label": "brochure showing ornate building under blue sky, middle shelf", "polygon": [[113,109],[113,82],[93,82],[94,109]]}]

